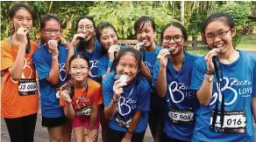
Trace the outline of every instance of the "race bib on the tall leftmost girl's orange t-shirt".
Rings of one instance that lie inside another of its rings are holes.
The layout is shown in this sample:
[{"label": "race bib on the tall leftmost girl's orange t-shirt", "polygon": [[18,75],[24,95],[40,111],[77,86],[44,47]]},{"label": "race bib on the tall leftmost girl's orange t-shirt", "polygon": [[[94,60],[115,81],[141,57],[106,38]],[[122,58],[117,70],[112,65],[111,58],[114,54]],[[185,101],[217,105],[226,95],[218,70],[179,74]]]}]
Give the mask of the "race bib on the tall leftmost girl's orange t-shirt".
[{"label": "race bib on the tall leftmost girl's orange t-shirt", "polygon": [[18,81],[18,93],[21,96],[37,94],[38,85],[36,79],[20,79]]}]

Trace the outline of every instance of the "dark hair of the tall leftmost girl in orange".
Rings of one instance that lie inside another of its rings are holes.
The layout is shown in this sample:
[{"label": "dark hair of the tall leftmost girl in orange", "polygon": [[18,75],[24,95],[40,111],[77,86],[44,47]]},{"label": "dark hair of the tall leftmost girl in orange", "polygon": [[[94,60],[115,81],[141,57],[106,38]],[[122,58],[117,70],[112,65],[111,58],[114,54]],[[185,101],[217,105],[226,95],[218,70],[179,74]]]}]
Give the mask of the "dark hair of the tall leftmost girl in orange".
[{"label": "dark hair of the tall leftmost girl in orange", "polygon": [[[20,9],[25,9],[32,15],[32,24],[34,24],[35,13],[29,5],[26,5],[24,3],[14,3],[11,6],[11,9],[8,14],[9,18],[12,19],[15,16],[16,12]],[[14,27],[11,25],[11,35],[13,35],[14,33],[15,33]],[[31,45],[30,45],[30,37],[28,34],[26,35],[26,38],[27,38],[28,44],[26,45],[25,53],[29,54]]]}]

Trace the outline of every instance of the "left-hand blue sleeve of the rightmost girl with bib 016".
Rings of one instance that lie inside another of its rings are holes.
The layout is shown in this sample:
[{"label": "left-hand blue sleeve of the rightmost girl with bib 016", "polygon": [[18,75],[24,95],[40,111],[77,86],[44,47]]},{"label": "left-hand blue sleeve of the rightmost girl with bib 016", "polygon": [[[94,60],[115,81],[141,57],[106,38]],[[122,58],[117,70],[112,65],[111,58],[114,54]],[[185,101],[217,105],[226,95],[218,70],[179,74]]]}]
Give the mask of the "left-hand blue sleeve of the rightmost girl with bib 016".
[{"label": "left-hand blue sleeve of the rightmost girl with bib 016", "polygon": [[198,59],[196,59],[192,69],[191,81],[189,86],[191,90],[198,91],[200,89],[201,85],[203,84],[205,70],[206,64],[204,62],[204,58],[199,57]]}]

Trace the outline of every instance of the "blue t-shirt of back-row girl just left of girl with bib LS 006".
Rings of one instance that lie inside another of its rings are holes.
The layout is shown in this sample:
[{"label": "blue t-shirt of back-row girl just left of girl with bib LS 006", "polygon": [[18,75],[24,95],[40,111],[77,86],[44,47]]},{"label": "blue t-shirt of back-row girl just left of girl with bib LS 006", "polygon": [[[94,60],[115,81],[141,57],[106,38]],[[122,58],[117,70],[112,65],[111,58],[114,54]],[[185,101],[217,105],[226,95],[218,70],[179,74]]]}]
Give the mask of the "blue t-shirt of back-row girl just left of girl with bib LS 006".
[{"label": "blue t-shirt of back-row girl just left of girl with bib LS 006", "polygon": [[[161,46],[155,44],[155,50],[151,52],[147,52],[145,50],[141,51],[141,56],[144,64],[146,65],[147,71],[150,72],[150,74],[153,75],[153,66],[155,62],[157,61],[157,56],[161,50]],[[151,105],[157,107],[157,108],[164,108],[165,107],[165,100],[164,98],[160,98],[155,91],[152,90],[152,96],[151,96]]]}]

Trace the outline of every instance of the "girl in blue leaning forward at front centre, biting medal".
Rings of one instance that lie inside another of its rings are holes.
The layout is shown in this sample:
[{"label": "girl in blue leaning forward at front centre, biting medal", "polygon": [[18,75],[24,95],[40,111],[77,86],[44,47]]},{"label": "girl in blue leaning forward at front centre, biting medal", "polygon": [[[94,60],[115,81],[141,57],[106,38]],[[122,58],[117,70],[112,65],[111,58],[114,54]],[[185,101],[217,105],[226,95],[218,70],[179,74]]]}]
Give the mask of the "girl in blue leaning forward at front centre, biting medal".
[{"label": "girl in blue leaning forward at front centre, biting medal", "polygon": [[105,117],[110,119],[107,142],[141,142],[147,127],[150,85],[139,74],[139,51],[121,49],[115,67],[102,84]]}]

